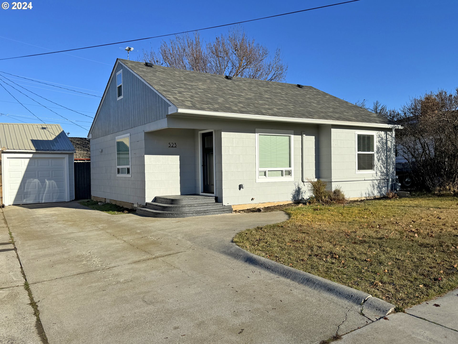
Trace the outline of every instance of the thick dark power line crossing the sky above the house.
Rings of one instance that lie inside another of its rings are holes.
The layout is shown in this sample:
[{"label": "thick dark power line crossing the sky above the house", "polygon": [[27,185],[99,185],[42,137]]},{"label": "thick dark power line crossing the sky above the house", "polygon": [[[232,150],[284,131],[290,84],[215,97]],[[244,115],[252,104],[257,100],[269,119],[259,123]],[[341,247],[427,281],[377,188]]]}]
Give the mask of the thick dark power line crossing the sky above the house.
[{"label": "thick dark power line crossing the sky above the house", "polygon": [[222,27],[224,27],[224,26],[242,24],[242,23],[245,23],[245,22],[255,22],[255,21],[257,21],[257,20],[269,19],[269,18],[274,18],[274,17],[281,17],[281,16],[286,16],[286,15],[289,15],[289,14],[300,13],[300,12],[305,12],[305,11],[318,10],[318,9],[320,9],[320,8],[326,8],[326,7],[331,7],[331,6],[344,5],[344,4],[349,4],[350,2],[356,2],[356,1],[360,1],[360,0],[350,0],[350,1],[345,1],[345,2],[339,2],[339,3],[337,3],[337,4],[331,4],[331,5],[325,5],[325,6],[318,6],[318,7],[313,7],[313,8],[307,8],[307,9],[305,9],[305,10],[300,10],[300,11],[293,11],[293,12],[288,12],[288,13],[276,14],[276,15],[268,16],[268,17],[261,17],[261,18],[256,18],[256,19],[243,20],[243,21],[241,21],[241,22],[232,22],[232,23],[229,23],[229,24],[222,24],[222,25],[210,26],[210,27],[207,27],[207,28],[199,28],[199,29],[195,29],[195,30],[188,30],[188,31],[176,32],[176,33],[168,33],[168,34],[158,35],[158,36],[153,36],[153,37],[146,37],[146,38],[139,38],[139,39],[131,39],[131,40],[122,41],[122,42],[107,43],[107,44],[98,44],[98,45],[91,45],[91,46],[82,47],[82,48],[74,48],[74,49],[67,49],[67,50],[51,51],[51,52],[49,52],[49,53],[32,54],[32,55],[22,55],[22,56],[15,56],[15,57],[6,57],[6,58],[3,58],[3,59],[0,59],[0,61],[2,61],[2,60],[11,60],[11,59],[19,59],[19,58],[22,58],[22,57],[31,57],[31,56],[39,56],[39,55],[49,55],[49,54],[56,54],[56,53],[64,53],[64,52],[67,52],[67,51],[75,51],[75,50],[82,50],[82,49],[98,48],[98,47],[104,47],[104,46],[107,46],[107,45],[114,45],[114,44],[122,44],[122,43],[136,42],[136,41],[142,41],[142,40],[145,40],[145,39],[162,38],[162,37],[174,36],[174,35],[178,35],[178,34],[182,34],[182,33],[190,33],[190,32],[202,31],[202,30],[209,30],[209,29],[212,29],[212,28],[222,28]]}]

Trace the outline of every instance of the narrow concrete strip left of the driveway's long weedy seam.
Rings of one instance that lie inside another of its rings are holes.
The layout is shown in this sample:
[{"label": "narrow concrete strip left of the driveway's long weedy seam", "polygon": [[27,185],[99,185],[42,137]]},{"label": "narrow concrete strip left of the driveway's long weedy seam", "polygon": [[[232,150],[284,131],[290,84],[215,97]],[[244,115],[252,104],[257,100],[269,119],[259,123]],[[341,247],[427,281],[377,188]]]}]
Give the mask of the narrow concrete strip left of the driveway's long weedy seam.
[{"label": "narrow concrete strip left of the driveway's long weedy seam", "polygon": [[24,289],[24,277],[0,210],[0,343],[41,344],[40,328]]}]

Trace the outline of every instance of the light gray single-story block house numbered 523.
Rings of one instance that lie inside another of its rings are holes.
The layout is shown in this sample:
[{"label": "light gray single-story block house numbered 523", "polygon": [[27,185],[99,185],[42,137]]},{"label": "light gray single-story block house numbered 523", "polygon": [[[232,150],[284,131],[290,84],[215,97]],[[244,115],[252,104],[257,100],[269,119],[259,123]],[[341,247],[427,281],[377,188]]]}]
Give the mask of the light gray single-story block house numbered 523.
[{"label": "light gray single-story block house numbered 523", "polygon": [[197,194],[242,209],[288,203],[294,183],[320,178],[379,197],[397,127],[311,86],[118,59],[88,135],[92,196],[160,211]]}]

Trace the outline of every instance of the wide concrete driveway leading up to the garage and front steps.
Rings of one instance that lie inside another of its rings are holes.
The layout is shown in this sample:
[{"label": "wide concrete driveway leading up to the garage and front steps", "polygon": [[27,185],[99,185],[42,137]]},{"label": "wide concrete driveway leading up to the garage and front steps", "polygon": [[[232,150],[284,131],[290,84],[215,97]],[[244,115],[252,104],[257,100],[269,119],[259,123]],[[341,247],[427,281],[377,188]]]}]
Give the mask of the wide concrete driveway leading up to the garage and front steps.
[{"label": "wide concrete driveway leading up to the garage and front steps", "polygon": [[283,212],[154,219],[71,202],[4,213],[51,344],[319,343],[369,322],[218,252]]}]

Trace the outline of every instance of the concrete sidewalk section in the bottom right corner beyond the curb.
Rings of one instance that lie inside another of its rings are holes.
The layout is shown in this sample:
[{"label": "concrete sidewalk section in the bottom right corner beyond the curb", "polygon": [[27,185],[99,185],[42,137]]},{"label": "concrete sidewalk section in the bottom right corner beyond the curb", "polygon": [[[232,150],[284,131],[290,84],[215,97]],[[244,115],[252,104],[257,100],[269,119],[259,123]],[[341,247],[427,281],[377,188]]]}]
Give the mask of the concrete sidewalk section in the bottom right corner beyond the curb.
[{"label": "concrete sidewalk section in the bottom right corner beyond the curb", "polygon": [[458,343],[458,289],[362,327],[339,344]]}]

